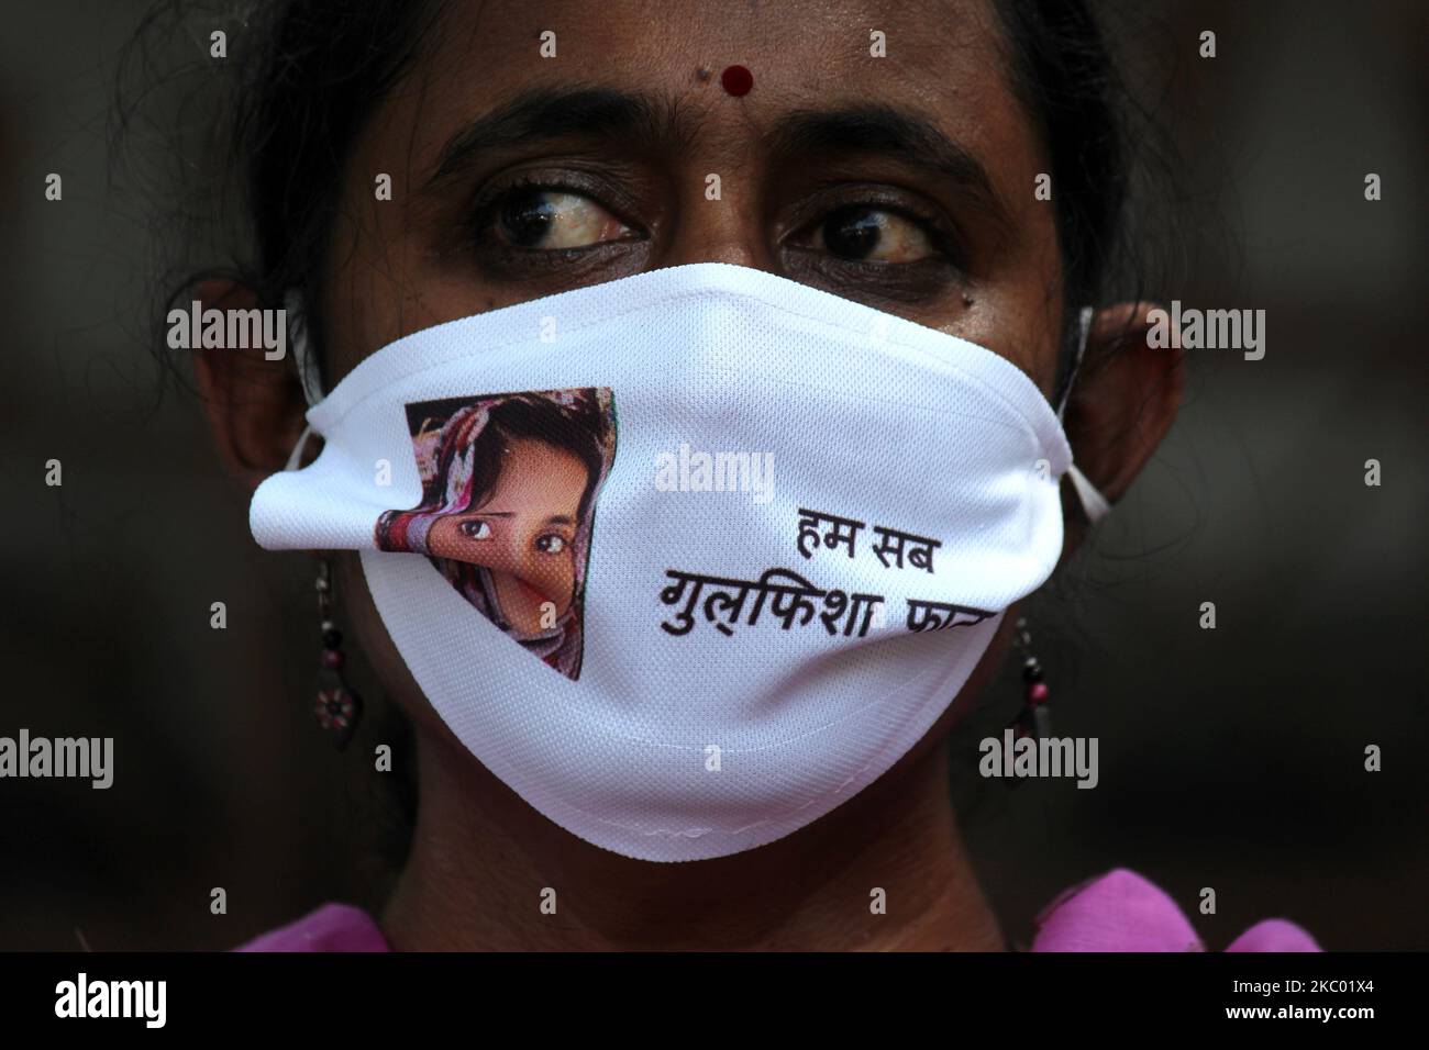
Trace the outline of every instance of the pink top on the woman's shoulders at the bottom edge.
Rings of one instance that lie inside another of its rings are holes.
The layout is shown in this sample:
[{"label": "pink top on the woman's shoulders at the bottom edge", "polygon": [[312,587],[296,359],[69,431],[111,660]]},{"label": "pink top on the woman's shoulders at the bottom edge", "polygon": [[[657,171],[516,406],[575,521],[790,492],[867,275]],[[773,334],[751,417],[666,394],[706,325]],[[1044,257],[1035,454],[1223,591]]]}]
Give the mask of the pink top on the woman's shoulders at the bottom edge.
[{"label": "pink top on the woman's shoulders at the bottom edge", "polygon": [[[352,904],[323,904],[237,951],[392,951],[377,923]],[[1037,916],[1033,951],[1205,951],[1190,921],[1163,890],[1116,869],[1075,886]],[[1305,930],[1265,919],[1226,951],[1319,951]]]}]

